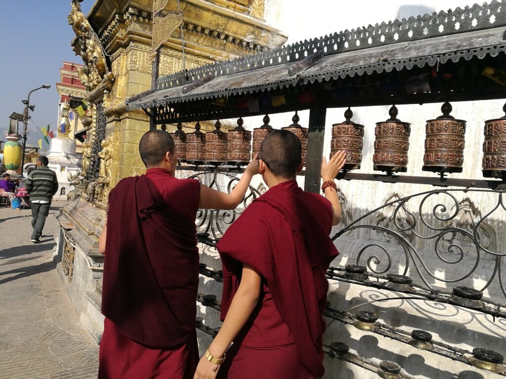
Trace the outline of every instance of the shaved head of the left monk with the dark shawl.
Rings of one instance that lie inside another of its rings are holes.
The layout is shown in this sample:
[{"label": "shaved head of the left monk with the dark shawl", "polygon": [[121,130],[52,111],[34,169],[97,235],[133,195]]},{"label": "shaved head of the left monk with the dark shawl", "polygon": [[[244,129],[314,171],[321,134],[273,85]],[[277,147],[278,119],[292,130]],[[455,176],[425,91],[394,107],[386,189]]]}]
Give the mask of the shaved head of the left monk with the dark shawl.
[{"label": "shaved head of the left monk with the dark shawl", "polygon": [[139,153],[146,167],[158,166],[167,152],[174,154],[174,139],[164,130],[146,132],[139,143]]}]

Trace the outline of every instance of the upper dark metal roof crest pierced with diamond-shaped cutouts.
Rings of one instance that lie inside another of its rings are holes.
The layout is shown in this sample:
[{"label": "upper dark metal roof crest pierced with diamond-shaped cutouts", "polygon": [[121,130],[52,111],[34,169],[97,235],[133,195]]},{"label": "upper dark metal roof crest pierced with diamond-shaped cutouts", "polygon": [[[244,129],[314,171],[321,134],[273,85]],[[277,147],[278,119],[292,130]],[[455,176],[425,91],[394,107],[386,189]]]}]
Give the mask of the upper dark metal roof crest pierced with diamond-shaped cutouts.
[{"label": "upper dark metal roof crest pierced with diamond-shaped cutouts", "polygon": [[492,0],[490,4],[456,8],[447,12],[434,12],[432,15],[409,17],[408,19],[382,22],[374,26],[345,30],[320,38],[313,38],[279,49],[241,57],[224,62],[193,68],[186,72],[163,76],[157,80],[156,89],[166,89],[185,85],[203,76],[215,77],[298,62],[318,51],[323,55],[333,55],[356,50],[384,46],[398,42],[458,34],[493,27],[506,26],[506,0]]}]

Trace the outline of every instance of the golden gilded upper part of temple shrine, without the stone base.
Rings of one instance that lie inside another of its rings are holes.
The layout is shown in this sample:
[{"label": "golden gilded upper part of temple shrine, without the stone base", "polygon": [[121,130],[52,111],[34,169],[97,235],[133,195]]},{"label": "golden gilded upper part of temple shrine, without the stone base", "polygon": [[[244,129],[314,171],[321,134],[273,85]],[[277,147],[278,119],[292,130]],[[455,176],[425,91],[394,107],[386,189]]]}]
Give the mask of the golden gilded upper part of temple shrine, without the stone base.
[{"label": "golden gilded upper part of temple shrine, without the stone base", "polygon": [[[90,194],[88,188],[85,192],[102,208],[110,188],[121,178],[144,169],[137,145],[149,128],[148,115],[126,111],[124,100],[151,88],[153,2],[117,3],[97,1],[87,18],[79,2],[73,1],[69,15],[76,34],[73,50],[84,63],[79,76],[89,89],[88,122],[93,126],[83,147],[83,166],[93,171],[85,175],[85,181],[96,182],[95,194]],[[165,3],[166,11],[178,9],[177,1]],[[264,0],[181,2],[183,24],[162,44],[159,75],[281,45],[286,37],[261,19],[263,4]],[[202,126],[204,130],[213,129],[212,124]],[[102,149],[108,151],[107,159],[113,164],[104,163],[106,159],[99,156]],[[101,176],[104,164],[109,167],[108,178]]]}]

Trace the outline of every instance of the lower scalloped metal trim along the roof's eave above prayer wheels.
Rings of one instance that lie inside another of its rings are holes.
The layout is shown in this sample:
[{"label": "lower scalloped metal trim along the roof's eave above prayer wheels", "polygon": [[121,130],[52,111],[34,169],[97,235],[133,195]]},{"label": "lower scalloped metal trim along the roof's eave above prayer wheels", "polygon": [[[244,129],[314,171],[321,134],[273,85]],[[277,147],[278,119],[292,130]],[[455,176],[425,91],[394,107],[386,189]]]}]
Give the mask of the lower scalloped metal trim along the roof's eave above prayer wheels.
[{"label": "lower scalloped metal trim along the roof's eave above prayer wheels", "polygon": [[[127,108],[129,110],[138,109],[138,108],[153,108],[153,107],[159,107],[164,106],[168,104],[177,104],[177,103],[185,103],[185,102],[192,102],[192,101],[198,101],[198,100],[209,100],[209,99],[217,99],[222,97],[229,97],[229,96],[238,96],[241,94],[249,94],[249,93],[258,93],[260,91],[265,90],[273,90],[273,89],[282,89],[287,88],[289,86],[296,86],[297,84],[308,84],[308,83],[315,83],[322,81],[328,81],[328,80],[336,80],[336,79],[344,79],[346,77],[354,77],[355,75],[363,75],[363,74],[372,74],[372,73],[382,73],[382,72],[392,72],[394,69],[397,71],[400,71],[402,69],[411,70],[412,68],[419,67],[423,68],[427,65],[429,66],[435,66],[438,61],[440,64],[446,63],[449,60],[456,63],[460,59],[465,59],[467,61],[471,60],[472,58],[479,58],[483,59],[486,56],[490,57],[496,57],[500,53],[506,53],[506,42],[495,45],[495,46],[485,46],[483,48],[478,49],[471,49],[471,50],[463,50],[463,51],[456,51],[451,52],[447,54],[436,54],[426,57],[417,57],[417,58],[411,58],[411,59],[399,59],[399,60],[391,60],[387,62],[378,62],[371,65],[365,65],[365,66],[358,66],[358,67],[352,67],[352,68],[346,68],[346,69],[339,69],[334,71],[326,71],[322,73],[317,74],[309,74],[304,75],[302,74],[300,77],[294,77],[294,78],[288,78],[288,79],[282,79],[276,82],[271,83],[264,83],[264,84],[256,84],[251,86],[243,86],[243,87],[236,87],[236,88],[225,88],[225,89],[219,89],[215,91],[210,92],[201,92],[201,93],[191,93],[186,96],[181,94],[181,96],[174,96],[170,98],[159,98],[159,99],[153,99],[151,101],[142,103],[142,101],[139,99],[139,101],[135,102],[137,104],[134,104],[133,101],[129,101],[129,105]],[[151,92],[153,93],[153,92]],[[167,102],[167,100],[170,101]]]}]

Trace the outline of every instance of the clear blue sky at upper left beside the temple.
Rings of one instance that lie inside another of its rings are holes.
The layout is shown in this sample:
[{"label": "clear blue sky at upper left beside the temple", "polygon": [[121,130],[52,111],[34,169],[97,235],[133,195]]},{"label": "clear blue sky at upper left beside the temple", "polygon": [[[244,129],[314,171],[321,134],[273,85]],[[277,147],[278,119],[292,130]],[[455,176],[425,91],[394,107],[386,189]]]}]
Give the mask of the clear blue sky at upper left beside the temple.
[{"label": "clear blue sky at upper left beside the temple", "polygon": [[[94,0],[85,0],[81,8],[88,14]],[[60,67],[63,61],[82,63],[70,46],[74,34],[68,25],[71,0],[0,0],[0,140],[5,140],[9,116],[23,113],[28,92],[42,84],[30,96],[35,111],[28,125],[28,144],[42,138],[39,128],[58,123],[58,92]],[[47,148],[43,142],[43,148]]]}]

